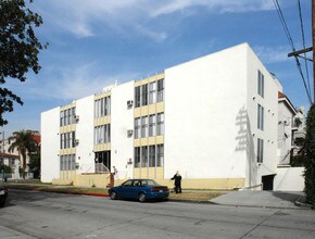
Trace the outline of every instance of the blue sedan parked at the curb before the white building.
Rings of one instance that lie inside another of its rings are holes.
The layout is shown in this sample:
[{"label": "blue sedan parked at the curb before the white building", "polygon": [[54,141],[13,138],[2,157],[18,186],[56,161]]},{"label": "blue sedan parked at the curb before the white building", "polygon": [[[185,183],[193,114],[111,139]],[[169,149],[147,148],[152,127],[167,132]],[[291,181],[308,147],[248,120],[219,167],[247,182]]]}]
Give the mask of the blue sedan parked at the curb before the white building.
[{"label": "blue sedan parked at the curb before the white building", "polygon": [[121,186],[110,188],[109,194],[112,200],[138,199],[146,202],[152,199],[167,199],[169,190],[152,179],[129,179]]}]

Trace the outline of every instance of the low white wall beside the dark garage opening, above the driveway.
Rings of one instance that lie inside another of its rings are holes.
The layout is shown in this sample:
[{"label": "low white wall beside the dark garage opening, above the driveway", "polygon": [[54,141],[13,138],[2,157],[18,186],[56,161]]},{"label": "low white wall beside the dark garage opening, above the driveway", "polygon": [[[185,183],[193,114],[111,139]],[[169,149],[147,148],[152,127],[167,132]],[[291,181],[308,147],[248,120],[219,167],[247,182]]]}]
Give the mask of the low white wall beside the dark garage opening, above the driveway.
[{"label": "low white wall beside the dark garage opening, above the driveway", "polygon": [[274,179],[274,190],[278,191],[303,191],[304,167],[281,167]]}]

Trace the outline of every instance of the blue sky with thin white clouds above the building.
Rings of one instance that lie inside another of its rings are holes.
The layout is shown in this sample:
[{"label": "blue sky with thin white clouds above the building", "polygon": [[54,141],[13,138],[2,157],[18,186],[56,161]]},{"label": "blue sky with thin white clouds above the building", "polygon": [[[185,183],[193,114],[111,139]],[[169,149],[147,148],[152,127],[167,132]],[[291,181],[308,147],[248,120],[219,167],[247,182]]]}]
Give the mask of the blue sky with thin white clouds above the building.
[{"label": "blue sky with thin white clouds above the building", "polygon": [[[298,0],[279,4],[300,50]],[[301,0],[306,47],[312,46],[311,4]],[[116,80],[140,79],[242,42],[277,76],[293,105],[310,106],[294,59],[287,56],[292,49],[274,0],[35,0],[30,9],[43,18],[37,36],[49,48],[40,52],[38,75],[5,85],[24,101],[5,114],[5,137],[39,130],[41,112]],[[308,71],[312,79],[311,64]]]}]

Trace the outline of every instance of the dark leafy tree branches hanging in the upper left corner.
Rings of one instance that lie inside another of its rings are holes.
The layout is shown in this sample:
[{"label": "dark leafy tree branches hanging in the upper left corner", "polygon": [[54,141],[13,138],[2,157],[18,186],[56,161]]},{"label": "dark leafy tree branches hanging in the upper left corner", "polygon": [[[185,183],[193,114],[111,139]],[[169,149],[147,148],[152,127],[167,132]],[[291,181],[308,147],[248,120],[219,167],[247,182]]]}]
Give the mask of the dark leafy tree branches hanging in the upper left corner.
[{"label": "dark leafy tree branches hanging in the upper left corner", "polygon": [[24,0],[0,0],[0,126],[8,124],[3,113],[12,112],[14,102],[23,104],[18,96],[2,87],[5,79],[25,81],[29,70],[35,74],[40,71],[38,53],[47,43],[40,43],[33,28],[41,24],[41,16]]}]

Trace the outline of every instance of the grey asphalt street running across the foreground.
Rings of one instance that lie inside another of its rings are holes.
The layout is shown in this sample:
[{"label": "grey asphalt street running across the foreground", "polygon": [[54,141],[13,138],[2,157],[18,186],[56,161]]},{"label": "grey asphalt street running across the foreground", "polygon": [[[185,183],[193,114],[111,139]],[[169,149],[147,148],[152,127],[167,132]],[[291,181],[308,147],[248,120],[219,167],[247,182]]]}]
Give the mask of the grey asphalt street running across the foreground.
[{"label": "grey asphalt street running across the foreground", "polygon": [[315,213],[10,190],[0,238],[315,238]]}]

